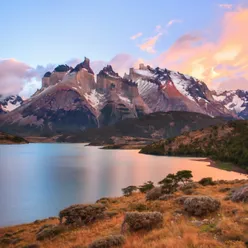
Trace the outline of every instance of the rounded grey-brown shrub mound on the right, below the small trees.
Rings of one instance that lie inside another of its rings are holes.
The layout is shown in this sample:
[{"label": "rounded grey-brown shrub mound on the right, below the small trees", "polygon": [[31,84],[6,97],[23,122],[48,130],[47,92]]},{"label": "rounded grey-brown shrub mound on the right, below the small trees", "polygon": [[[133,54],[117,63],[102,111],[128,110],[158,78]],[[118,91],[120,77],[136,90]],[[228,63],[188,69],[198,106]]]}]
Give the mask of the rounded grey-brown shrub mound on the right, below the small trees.
[{"label": "rounded grey-brown shrub mound on the right, below the small trees", "polygon": [[187,197],[183,204],[184,210],[194,216],[203,216],[220,208],[220,201],[210,196]]}]

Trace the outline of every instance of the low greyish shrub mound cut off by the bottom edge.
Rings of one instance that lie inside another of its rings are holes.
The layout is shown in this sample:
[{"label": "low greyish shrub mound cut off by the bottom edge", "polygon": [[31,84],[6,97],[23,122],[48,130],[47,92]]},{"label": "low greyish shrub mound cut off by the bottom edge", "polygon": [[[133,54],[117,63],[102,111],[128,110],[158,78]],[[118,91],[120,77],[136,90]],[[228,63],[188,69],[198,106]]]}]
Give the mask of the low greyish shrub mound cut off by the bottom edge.
[{"label": "low greyish shrub mound cut off by the bottom edge", "polygon": [[111,248],[119,247],[125,243],[123,235],[110,235],[101,239],[97,239],[89,245],[89,248]]}]

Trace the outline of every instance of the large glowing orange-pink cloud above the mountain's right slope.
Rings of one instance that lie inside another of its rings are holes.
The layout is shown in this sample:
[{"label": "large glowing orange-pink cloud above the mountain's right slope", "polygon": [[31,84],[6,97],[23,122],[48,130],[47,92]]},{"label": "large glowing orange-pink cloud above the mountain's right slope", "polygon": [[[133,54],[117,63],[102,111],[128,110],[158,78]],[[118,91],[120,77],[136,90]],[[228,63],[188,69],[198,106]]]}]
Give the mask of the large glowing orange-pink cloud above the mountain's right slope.
[{"label": "large glowing orange-pink cloud above the mountain's right slope", "polygon": [[248,9],[226,12],[219,37],[213,42],[199,34],[181,36],[155,64],[195,76],[211,86],[222,78],[247,80]]}]

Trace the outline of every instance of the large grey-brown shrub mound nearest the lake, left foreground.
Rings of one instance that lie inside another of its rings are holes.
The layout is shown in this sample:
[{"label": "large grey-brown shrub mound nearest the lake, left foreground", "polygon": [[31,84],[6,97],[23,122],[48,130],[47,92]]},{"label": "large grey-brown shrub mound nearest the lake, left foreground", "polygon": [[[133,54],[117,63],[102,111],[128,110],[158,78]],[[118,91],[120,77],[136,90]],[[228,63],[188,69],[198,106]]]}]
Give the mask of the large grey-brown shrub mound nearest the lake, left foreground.
[{"label": "large grey-brown shrub mound nearest the lake, left foreground", "polygon": [[103,204],[77,204],[60,211],[60,223],[65,225],[86,225],[104,217],[106,207]]}]

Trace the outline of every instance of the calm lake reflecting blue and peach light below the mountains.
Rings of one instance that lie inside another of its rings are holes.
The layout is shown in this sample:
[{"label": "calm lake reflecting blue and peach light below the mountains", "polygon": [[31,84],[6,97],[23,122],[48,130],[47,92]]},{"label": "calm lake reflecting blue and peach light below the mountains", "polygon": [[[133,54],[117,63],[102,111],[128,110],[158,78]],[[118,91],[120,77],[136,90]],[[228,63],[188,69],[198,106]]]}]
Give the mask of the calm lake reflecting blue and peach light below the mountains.
[{"label": "calm lake reflecting blue and peach light below the mountains", "polygon": [[76,203],[120,196],[121,188],[192,170],[194,179],[246,178],[190,158],[101,150],[84,144],[0,145],[0,226],[32,222]]}]

